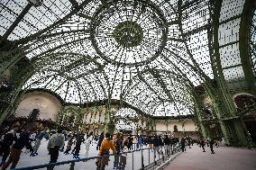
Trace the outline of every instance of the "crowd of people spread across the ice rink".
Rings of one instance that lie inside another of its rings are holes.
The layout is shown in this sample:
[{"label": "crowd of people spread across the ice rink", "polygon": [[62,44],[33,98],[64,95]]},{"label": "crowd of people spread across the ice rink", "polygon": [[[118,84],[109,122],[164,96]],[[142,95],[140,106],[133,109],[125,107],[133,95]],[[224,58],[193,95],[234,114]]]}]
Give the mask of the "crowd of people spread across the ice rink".
[{"label": "crowd of people spread across the ice rink", "polygon": [[[17,133],[19,131],[20,133]],[[53,131],[53,132],[50,132]],[[152,148],[151,152],[163,154],[169,153],[169,146],[179,145],[182,151],[186,151],[186,148],[193,146],[195,142],[205,152],[206,145],[211,148],[212,154],[215,154],[214,146],[215,140],[199,139],[197,141],[187,137],[183,139],[171,138],[168,135],[131,135],[131,134],[109,134],[102,132],[100,135],[90,133],[82,133],[80,131],[69,132],[63,131],[62,128],[58,130],[49,130],[47,126],[37,127],[36,123],[28,123],[25,130],[20,130],[20,124],[14,123],[11,130],[5,132],[1,138],[0,154],[2,157],[2,170],[5,170],[11,164],[11,168],[15,168],[17,165],[23,148],[30,150],[30,156],[36,157],[38,155],[38,149],[41,146],[41,140],[48,140],[47,149],[50,155],[50,163],[56,163],[59,157],[59,152],[64,154],[73,154],[74,158],[79,158],[79,152],[81,145],[85,145],[86,154],[88,157],[89,149],[91,145],[96,145],[97,155],[100,156],[96,160],[96,167],[99,170],[104,170],[105,166],[109,162],[110,149],[114,153],[114,169],[124,169],[126,165],[127,152],[129,150],[142,149],[143,146]],[[65,146],[65,141],[66,146]],[[216,147],[218,147],[216,145]],[[162,153],[161,153],[162,152]],[[7,160],[7,157],[8,160]],[[7,161],[6,161],[7,160]],[[52,170],[54,166],[48,167],[48,170]]]}]

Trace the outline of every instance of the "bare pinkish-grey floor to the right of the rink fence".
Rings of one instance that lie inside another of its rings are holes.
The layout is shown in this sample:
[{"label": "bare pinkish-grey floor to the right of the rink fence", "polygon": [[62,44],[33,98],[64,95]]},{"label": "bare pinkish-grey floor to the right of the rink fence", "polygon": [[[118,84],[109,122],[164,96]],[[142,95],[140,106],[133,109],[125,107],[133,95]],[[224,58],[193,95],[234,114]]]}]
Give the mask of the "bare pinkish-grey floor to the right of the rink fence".
[{"label": "bare pinkish-grey floor to the right of the rink fence", "polygon": [[175,158],[165,170],[256,170],[256,150],[243,148],[210,148],[203,152],[194,145]]}]

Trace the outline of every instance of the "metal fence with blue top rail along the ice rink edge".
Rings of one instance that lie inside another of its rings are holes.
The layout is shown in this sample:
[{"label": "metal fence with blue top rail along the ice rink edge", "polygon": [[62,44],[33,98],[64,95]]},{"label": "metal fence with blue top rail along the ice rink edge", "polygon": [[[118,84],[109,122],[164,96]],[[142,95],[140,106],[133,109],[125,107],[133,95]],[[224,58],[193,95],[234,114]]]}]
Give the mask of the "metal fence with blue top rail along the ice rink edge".
[{"label": "metal fence with blue top rail along the ice rink edge", "polygon": [[[132,151],[125,152],[127,153],[126,165],[124,169],[128,170],[139,170],[139,169],[159,169],[161,166],[164,166],[166,163],[176,157],[180,153],[180,148],[178,144],[175,145],[165,145],[164,147],[157,148],[142,148]],[[124,154],[124,152],[122,153]],[[114,154],[110,154],[106,157],[109,157],[108,165],[105,166],[105,170],[113,169],[114,167]],[[105,157],[105,156],[104,156]],[[119,160],[121,154],[118,156]],[[26,167],[17,167],[12,170],[45,170],[52,169],[54,170],[94,170],[96,169],[96,161],[101,157],[87,157],[87,158],[78,158],[67,161],[61,161],[52,164],[44,164],[39,166],[26,166]],[[117,168],[119,169],[119,168]]]}]

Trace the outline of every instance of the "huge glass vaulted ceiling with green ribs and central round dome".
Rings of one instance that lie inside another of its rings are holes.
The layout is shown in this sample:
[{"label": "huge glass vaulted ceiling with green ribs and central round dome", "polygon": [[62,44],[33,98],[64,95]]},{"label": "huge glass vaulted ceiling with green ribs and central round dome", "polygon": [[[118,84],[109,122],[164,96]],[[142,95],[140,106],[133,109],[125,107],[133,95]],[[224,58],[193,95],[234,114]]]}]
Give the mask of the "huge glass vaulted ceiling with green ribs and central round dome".
[{"label": "huge glass vaulted ceiling with green ribs and central round dome", "polygon": [[214,77],[208,0],[7,0],[2,37],[30,2],[8,36],[34,66],[25,90],[49,89],[67,103],[118,99],[175,116],[192,113],[191,88]]}]

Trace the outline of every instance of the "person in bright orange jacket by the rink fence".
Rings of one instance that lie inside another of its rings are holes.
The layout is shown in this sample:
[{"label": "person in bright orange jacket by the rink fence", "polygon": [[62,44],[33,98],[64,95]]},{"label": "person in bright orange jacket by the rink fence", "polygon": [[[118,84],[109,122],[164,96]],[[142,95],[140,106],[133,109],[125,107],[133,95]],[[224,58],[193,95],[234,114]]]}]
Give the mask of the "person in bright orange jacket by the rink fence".
[{"label": "person in bright orange jacket by the rink fence", "polygon": [[105,139],[102,141],[98,152],[98,156],[101,156],[101,158],[96,162],[97,170],[105,170],[105,166],[108,165],[109,149],[112,149],[113,153],[115,154],[115,148],[113,142],[110,139],[110,134],[105,133]]}]

